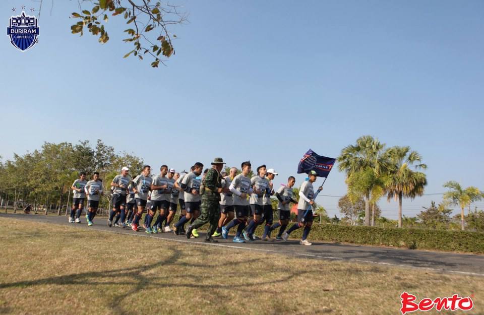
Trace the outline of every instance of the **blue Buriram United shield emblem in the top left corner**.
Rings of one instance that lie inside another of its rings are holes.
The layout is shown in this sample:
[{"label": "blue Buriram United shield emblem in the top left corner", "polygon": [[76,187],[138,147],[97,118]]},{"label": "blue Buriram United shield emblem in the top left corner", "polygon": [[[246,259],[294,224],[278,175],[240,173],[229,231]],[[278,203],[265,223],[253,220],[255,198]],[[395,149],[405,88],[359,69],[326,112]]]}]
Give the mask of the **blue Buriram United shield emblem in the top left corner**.
[{"label": "blue Buriram United shield emblem in the top left corner", "polygon": [[32,48],[37,42],[37,36],[39,35],[37,18],[25,15],[23,11],[20,16],[10,17],[7,35],[10,36],[10,43],[20,51]]}]

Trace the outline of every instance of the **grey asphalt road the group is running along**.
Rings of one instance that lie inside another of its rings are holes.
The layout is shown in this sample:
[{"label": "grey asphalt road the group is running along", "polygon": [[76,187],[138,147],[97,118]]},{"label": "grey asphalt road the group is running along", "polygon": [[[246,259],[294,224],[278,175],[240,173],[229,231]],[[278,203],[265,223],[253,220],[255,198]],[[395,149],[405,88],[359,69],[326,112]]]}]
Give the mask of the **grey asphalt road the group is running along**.
[{"label": "grey asphalt road the group is running along", "polygon": [[[398,266],[404,268],[418,268],[433,272],[453,273],[471,276],[484,276],[484,255],[453,254],[440,251],[410,250],[401,248],[348,245],[340,243],[313,242],[312,246],[300,245],[298,240],[262,241],[237,244],[231,238],[218,238],[218,243],[205,243],[201,232],[200,238],[188,240],[184,235],[173,233],[147,234],[144,231],[135,232],[130,228],[109,228],[107,219],[97,216],[94,225],[88,227],[83,217],[81,223],[69,223],[65,216],[55,215],[25,215],[0,213],[2,218],[15,220],[38,221],[51,224],[70,225],[72,228],[99,230],[110,233],[129,234],[133,236],[153,237],[176,242],[197,243],[206,246],[219,246],[227,250],[256,250],[266,253],[278,253],[301,258],[347,261],[353,263],[373,264],[380,266]],[[311,239],[311,234],[309,239]]]}]

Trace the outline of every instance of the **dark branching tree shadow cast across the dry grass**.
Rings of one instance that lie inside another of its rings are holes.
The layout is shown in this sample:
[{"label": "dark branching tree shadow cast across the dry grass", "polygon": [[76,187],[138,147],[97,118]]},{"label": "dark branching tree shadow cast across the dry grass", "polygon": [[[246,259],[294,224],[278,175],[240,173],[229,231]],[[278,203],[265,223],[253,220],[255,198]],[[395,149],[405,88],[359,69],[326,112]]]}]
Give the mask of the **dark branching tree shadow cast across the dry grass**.
[{"label": "dark branching tree shadow cast across the dry grass", "polygon": [[[237,290],[240,293],[254,294],[258,292],[258,287],[267,285],[286,282],[292,278],[300,277],[308,274],[308,271],[297,271],[294,268],[288,268],[281,273],[277,279],[271,280],[257,280],[257,278],[246,278],[246,275],[240,274],[240,279],[234,279],[233,282],[228,283],[207,283],[210,282],[213,275],[209,271],[205,272],[206,268],[219,269],[221,272],[232,274],[233,268],[240,265],[242,268],[245,266],[251,266],[251,264],[260,263],[264,261],[264,258],[249,259],[249,260],[239,260],[230,261],[227,267],[223,268],[220,263],[211,263],[209,250],[200,248],[196,251],[192,251],[191,257],[195,259],[200,256],[202,260],[206,260],[207,264],[201,263],[189,263],[187,261],[182,261],[182,258],[186,258],[186,253],[178,249],[171,249],[172,253],[164,259],[157,261],[155,263],[144,264],[141,266],[134,266],[129,268],[117,268],[113,270],[103,270],[103,271],[93,271],[84,272],[80,274],[69,274],[56,277],[47,277],[43,279],[31,280],[31,281],[17,281],[12,283],[2,283],[0,284],[1,289],[9,288],[32,288],[35,286],[42,285],[117,285],[117,286],[129,286],[126,292],[116,294],[114,296],[106,297],[108,299],[107,307],[112,309],[113,313],[131,315],[134,312],[127,310],[124,305],[128,303],[126,299],[132,295],[137,295],[141,290],[149,289],[162,289],[162,288],[180,288],[186,287],[190,289],[199,289],[203,292],[211,292],[215,289],[220,289],[221,291]],[[156,274],[158,268],[166,268],[168,266],[173,266],[176,268],[182,267],[178,274],[173,274],[170,276]],[[187,270],[194,270],[203,268],[201,271],[195,271],[195,273],[187,273]],[[270,268],[270,265],[267,265]],[[269,270],[268,270],[269,271]],[[216,274],[219,274],[216,271]],[[238,280],[238,281],[237,281]],[[247,281],[246,281],[247,280]],[[123,289],[125,290],[125,289]],[[259,290],[260,291],[260,290]],[[260,291],[259,293],[267,293],[267,291]],[[274,291],[273,294],[277,292]],[[103,294],[103,290],[100,290],[100,294]],[[0,308],[0,313],[2,311],[9,311],[9,307]]]}]

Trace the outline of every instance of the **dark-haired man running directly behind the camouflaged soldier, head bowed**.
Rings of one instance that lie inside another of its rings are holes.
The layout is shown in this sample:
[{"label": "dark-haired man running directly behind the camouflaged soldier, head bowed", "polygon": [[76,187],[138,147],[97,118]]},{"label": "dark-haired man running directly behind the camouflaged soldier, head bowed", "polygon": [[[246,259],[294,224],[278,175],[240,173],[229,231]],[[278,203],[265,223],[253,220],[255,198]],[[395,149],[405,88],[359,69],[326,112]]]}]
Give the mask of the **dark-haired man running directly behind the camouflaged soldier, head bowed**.
[{"label": "dark-haired man running directly behind the camouflaged soldier, head bowed", "polygon": [[[185,195],[185,208],[187,215],[181,217],[180,220],[175,224],[173,232],[178,235],[179,227],[184,225],[186,222],[193,221],[198,218],[200,214],[200,175],[203,172],[203,164],[200,162],[195,163],[193,166],[193,171],[188,173],[183,180],[181,180],[181,189],[184,190]],[[192,234],[198,237],[196,229],[192,230]],[[190,236],[190,235],[189,235]]]}]

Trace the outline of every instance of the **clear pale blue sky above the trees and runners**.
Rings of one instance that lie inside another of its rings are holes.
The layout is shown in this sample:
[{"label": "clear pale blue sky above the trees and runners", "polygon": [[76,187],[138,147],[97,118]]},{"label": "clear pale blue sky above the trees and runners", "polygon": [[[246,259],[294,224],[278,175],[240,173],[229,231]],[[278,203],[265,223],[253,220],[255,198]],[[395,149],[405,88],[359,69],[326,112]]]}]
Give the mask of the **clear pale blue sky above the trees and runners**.
[{"label": "clear pale blue sky above the trees and runners", "polygon": [[[12,47],[4,29],[4,160],[44,141],[100,138],[155,169],[250,159],[275,168],[279,184],[309,148],[336,157],[369,134],[417,150],[429,166],[429,194],[444,192],[447,180],[484,190],[483,2],[174,3],[190,22],[172,29],[176,54],[159,69],[123,59],[131,46],[119,17],[106,25],[104,45],[71,34],[76,1],[54,0],[53,8],[44,1],[39,43],[27,52]],[[31,0],[0,3],[5,28],[22,5],[39,9]],[[345,191],[333,170],[324,194]],[[337,200],[317,201],[332,216]],[[405,200],[404,214],[431,200],[441,196]],[[395,202],[380,206],[396,218]]]}]

